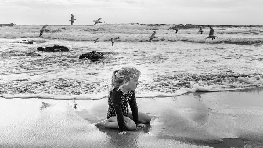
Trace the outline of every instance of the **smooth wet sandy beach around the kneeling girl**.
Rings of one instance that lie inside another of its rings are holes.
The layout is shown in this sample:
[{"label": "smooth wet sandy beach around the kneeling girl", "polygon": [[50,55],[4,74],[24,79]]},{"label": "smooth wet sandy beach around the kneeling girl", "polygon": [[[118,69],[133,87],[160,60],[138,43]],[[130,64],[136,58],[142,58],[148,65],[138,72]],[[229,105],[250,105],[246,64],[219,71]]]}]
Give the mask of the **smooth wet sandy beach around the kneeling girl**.
[{"label": "smooth wet sandy beach around the kneeling girl", "polygon": [[107,98],[0,98],[0,147],[262,147],[263,89],[137,98],[145,128],[96,127]]}]

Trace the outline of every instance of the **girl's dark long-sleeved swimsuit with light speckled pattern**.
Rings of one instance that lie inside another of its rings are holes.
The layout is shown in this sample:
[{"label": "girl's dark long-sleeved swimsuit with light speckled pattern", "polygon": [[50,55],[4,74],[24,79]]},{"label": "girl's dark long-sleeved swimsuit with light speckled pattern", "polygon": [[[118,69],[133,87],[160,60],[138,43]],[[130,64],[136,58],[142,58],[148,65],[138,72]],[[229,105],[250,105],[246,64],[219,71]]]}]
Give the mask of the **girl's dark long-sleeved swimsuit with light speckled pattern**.
[{"label": "girl's dark long-sleeved swimsuit with light speckled pattern", "polygon": [[117,116],[117,121],[120,131],[126,131],[127,128],[124,124],[124,117],[128,117],[130,104],[132,110],[133,121],[139,123],[138,121],[138,107],[135,98],[135,91],[129,91],[128,94],[124,94],[121,90],[113,89],[108,97],[108,112],[107,119],[113,116]]}]

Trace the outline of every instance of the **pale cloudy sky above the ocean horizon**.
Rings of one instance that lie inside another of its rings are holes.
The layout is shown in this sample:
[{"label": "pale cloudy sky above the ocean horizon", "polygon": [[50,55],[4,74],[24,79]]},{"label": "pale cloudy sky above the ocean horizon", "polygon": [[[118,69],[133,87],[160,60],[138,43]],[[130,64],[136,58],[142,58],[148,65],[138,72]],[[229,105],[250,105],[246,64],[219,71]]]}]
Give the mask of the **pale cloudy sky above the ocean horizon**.
[{"label": "pale cloudy sky above the ocean horizon", "polygon": [[0,13],[16,25],[67,25],[71,14],[74,25],[263,25],[263,0],[0,0]]}]

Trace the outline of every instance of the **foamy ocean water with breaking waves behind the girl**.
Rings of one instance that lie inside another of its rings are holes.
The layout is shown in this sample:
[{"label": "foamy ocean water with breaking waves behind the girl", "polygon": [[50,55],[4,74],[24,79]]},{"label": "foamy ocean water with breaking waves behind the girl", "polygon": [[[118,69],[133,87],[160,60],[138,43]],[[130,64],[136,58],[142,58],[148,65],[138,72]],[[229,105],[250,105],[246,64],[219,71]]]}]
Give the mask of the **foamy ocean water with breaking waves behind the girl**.
[{"label": "foamy ocean water with breaking waves behind the girl", "polygon": [[[211,26],[214,40],[197,26],[178,25],[175,34],[164,24],[50,25],[41,37],[42,25],[0,27],[0,97],[101,99],[113,70],[127,65],[141,71],[136,97],[263,86],[263,26]],[[110,37],[119,37],[113,46]],[[53,45],[70,52],[37,50]],[[91,51],[105,59],[78,59]]]}]

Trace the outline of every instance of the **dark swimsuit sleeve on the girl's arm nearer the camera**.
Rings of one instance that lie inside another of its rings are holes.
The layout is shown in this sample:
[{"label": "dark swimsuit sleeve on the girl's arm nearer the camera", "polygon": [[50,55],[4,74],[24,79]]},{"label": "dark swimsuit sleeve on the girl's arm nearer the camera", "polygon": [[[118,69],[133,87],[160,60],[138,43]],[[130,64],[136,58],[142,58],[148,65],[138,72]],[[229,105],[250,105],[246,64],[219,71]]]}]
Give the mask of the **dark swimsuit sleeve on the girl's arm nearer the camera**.
[{"label": "dark swimsuit sleeve on the girl's arm nearer the camera", "polygon": [[120,132],[127,131],[127,128],[124,123],[124,117],[121,111],[121,96],[119,92],[117,92],[116,90],[113,90],[113,92],[110,93],[110,100],[113,104],[113,108],[117,116],[117,121],[118,121]]}]

